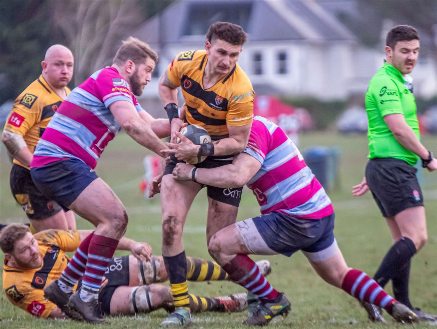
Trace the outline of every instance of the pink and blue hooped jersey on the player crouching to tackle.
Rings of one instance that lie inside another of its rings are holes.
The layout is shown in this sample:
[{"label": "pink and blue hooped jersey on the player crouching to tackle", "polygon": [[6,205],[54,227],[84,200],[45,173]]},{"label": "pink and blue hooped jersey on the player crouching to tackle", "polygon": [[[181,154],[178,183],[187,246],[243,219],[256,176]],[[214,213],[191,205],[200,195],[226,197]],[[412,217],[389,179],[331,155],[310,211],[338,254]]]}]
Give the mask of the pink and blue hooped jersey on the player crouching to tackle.
[{"label": "pink and blue hooped jersey on the player crouching to tackle", "polygon": [[333,214],[322,185],[281,128],[266,118],[253,118],[244,150],[261,163],[247,183],[257,197],[261,214],[273,211],[298,218],[318,219]]}]

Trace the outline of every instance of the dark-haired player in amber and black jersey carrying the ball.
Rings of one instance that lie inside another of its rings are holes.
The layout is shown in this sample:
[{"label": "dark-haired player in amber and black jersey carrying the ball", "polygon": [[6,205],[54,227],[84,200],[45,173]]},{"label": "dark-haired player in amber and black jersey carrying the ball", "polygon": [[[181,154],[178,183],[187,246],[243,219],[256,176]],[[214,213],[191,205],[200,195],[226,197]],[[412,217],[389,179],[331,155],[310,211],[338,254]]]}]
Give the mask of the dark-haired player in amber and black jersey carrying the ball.
[{"label": "dark-haired player in amber and black jersey carrying the ball", "polygon": [[[237,64],[246,39],[239,25],[216,22],[206,34],[205,50],[181,52],[160,79],[159,95],[171,124],[171,143],[163,152],[173,155],[161,182],[162,254],[176,306],[176,312],[162,326],[190,322],[182,230],[191,203],[202,187],[196,182],[174,180],[171,173],[178,161],[194,162],[199,156],[208,158],[198,167],[229,164],[233,155],[246,148],[253,120],[254,93],[249,78]],[[187,123],[205,128],[213,142],[194,145],[183,138],[174,144],[183,125],[177,114],[179,86],[187,105]],[[207,186],[207,242],[215,232],[235,221],[241,190],[242,187]]]}]

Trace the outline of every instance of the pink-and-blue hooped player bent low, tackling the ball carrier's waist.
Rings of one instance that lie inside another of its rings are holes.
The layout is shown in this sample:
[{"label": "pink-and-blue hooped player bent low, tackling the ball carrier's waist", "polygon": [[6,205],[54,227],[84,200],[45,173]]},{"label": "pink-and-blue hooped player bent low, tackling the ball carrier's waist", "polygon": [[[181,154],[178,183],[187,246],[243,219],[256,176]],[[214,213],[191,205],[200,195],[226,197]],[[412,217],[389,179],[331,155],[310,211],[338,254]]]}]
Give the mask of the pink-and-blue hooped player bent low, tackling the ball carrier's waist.
[{"label": "pink-and-blue hooped player bent low, tackling the ball carrier's waist", "polygon": [[259,298],[257,309],[244,323],[263,326],[290,309],[287,298],[260,275],[247,255],[291,256],[298,250],[329,284],[385,308],[396,321],[417,322],[414,312],[367,274],[347,267],[334,238],[334,209],[328,195],[293,142],[271,121],[254,118],[247,148],[232,164],[204,169],[178,163],[173,177],[194,177],[200,184],[218,187],[247,184],[257,197],[261,216],[221,229],[208,245],[209,253],[229,278]]}]

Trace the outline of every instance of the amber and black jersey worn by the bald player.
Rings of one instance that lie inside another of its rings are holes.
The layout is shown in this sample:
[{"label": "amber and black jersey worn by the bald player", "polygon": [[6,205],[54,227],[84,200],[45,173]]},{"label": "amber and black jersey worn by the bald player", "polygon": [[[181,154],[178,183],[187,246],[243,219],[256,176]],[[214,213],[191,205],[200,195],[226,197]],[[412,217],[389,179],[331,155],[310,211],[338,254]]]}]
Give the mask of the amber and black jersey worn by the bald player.
[{"label": "amber and black jersey worn by the bald player", "polygon": [[[65,91],[67,95],[70,92],[68,87],[65,87]],[[23,136],[29,151],[33,153],[47,124],[61,103],[62,98],[40,75],[15,99],[4,129]],[[15,159],[14,163],[28,168]]]}]

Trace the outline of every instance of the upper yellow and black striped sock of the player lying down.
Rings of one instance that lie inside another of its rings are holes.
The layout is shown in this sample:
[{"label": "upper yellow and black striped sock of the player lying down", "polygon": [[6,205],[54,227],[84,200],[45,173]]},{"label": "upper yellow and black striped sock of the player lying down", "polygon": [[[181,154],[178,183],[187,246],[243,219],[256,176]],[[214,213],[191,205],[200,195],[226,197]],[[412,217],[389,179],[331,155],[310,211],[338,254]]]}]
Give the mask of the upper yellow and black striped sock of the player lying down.
[{"label": "upper yellow and black striped sock of the player lying down", "polygon": [[212,260],[187,257],[188,281],[219,281],[228,280],[228,274],[220,265]]}]

